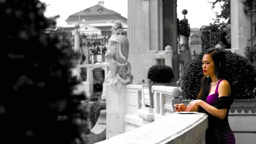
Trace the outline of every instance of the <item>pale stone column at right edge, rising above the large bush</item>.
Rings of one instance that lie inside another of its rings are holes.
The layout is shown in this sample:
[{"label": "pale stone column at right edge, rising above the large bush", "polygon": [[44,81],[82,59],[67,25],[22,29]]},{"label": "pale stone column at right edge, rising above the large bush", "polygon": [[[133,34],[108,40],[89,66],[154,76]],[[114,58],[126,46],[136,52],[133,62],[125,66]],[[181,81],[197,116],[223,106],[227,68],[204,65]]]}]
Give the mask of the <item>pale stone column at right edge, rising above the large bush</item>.
[{"label": "pale stone column at right edge, rising above the large bush", "polygon": [[[230,1],[231,51],[242,56],[245,56],[246,46],[253,49],[256,40],[255,1],[247,2],[248,5],[238,0]],[[249,5],[254,5],[254,11]]]}]

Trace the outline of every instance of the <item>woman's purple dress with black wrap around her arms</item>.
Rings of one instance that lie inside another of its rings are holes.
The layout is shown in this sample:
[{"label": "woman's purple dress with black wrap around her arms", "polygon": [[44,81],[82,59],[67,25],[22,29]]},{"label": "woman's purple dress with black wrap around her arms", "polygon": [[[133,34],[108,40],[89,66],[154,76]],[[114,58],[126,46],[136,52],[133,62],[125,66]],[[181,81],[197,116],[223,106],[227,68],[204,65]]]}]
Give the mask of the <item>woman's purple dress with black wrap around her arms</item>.
[{"label": "woman's purple dress with black wrap around her arms", "polygon": [[230,109],[230,105],[232,104],[233,100],[231,97],[219,97],[218,87],[220,81],[224,79],[220,79],[215,93],[208,95],[206,98],[206,103],[210,104],[217,109],[228,109],[226,112],[226,116],[224,119],[219,119],[207,111],[201,108],[200,112],[205,112],[208,115],[208,128],[206,130],[206,143],[228,143],[234,144],[235,143],[235,136],[230,129],[229,122],[228,122],[228,113]]}]

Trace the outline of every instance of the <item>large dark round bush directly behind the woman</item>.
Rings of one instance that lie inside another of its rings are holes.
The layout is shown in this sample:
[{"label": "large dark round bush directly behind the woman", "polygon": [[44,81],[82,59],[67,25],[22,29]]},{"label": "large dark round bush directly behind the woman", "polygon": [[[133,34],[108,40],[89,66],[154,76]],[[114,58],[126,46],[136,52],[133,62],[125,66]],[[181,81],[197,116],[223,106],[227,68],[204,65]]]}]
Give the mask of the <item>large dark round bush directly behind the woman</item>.
[{"label": "large dark round bush directly behind the woman", "polygon": [[[219,49],[226,54],[224,79],[228,80],[235,99],[254,99],[256,95],[256,67],[249,60],[229,50]],[[182,71],[181,88],[183,99],[196,99],[201,87],[202,57],[200,53]]]}]

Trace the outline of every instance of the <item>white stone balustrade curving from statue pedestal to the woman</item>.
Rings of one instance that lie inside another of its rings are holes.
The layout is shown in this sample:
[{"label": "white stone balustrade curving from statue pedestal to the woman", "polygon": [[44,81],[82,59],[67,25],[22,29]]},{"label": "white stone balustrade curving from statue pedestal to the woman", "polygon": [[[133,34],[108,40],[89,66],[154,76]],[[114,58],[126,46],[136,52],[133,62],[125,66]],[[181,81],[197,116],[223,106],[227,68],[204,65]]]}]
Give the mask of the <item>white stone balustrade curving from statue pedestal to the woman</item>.
[{"label": "white stone balustrade curving from statue pedestal to the woman", "polygon": [[98,144],[205,143],[207,115],[173,113],[173,104],[180,102],[177,87],[152,86],[154,108],[148,107],[142,85],[127,85],[126,88],[125,133]]}]

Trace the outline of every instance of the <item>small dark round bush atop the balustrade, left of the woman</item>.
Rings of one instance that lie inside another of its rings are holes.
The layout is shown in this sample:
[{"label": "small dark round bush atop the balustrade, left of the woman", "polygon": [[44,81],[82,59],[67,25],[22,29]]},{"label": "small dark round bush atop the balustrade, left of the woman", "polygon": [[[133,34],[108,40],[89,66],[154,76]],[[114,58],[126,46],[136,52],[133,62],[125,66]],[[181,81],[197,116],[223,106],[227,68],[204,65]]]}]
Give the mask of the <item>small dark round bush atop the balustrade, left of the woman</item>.
[{"label": "small dark round bush atop the balustrade, left of the woman", "polygon": [[154,83],[168,83],[173,80],[172,68],[168,65],[153,65],[148,70],[148,77]]}]

